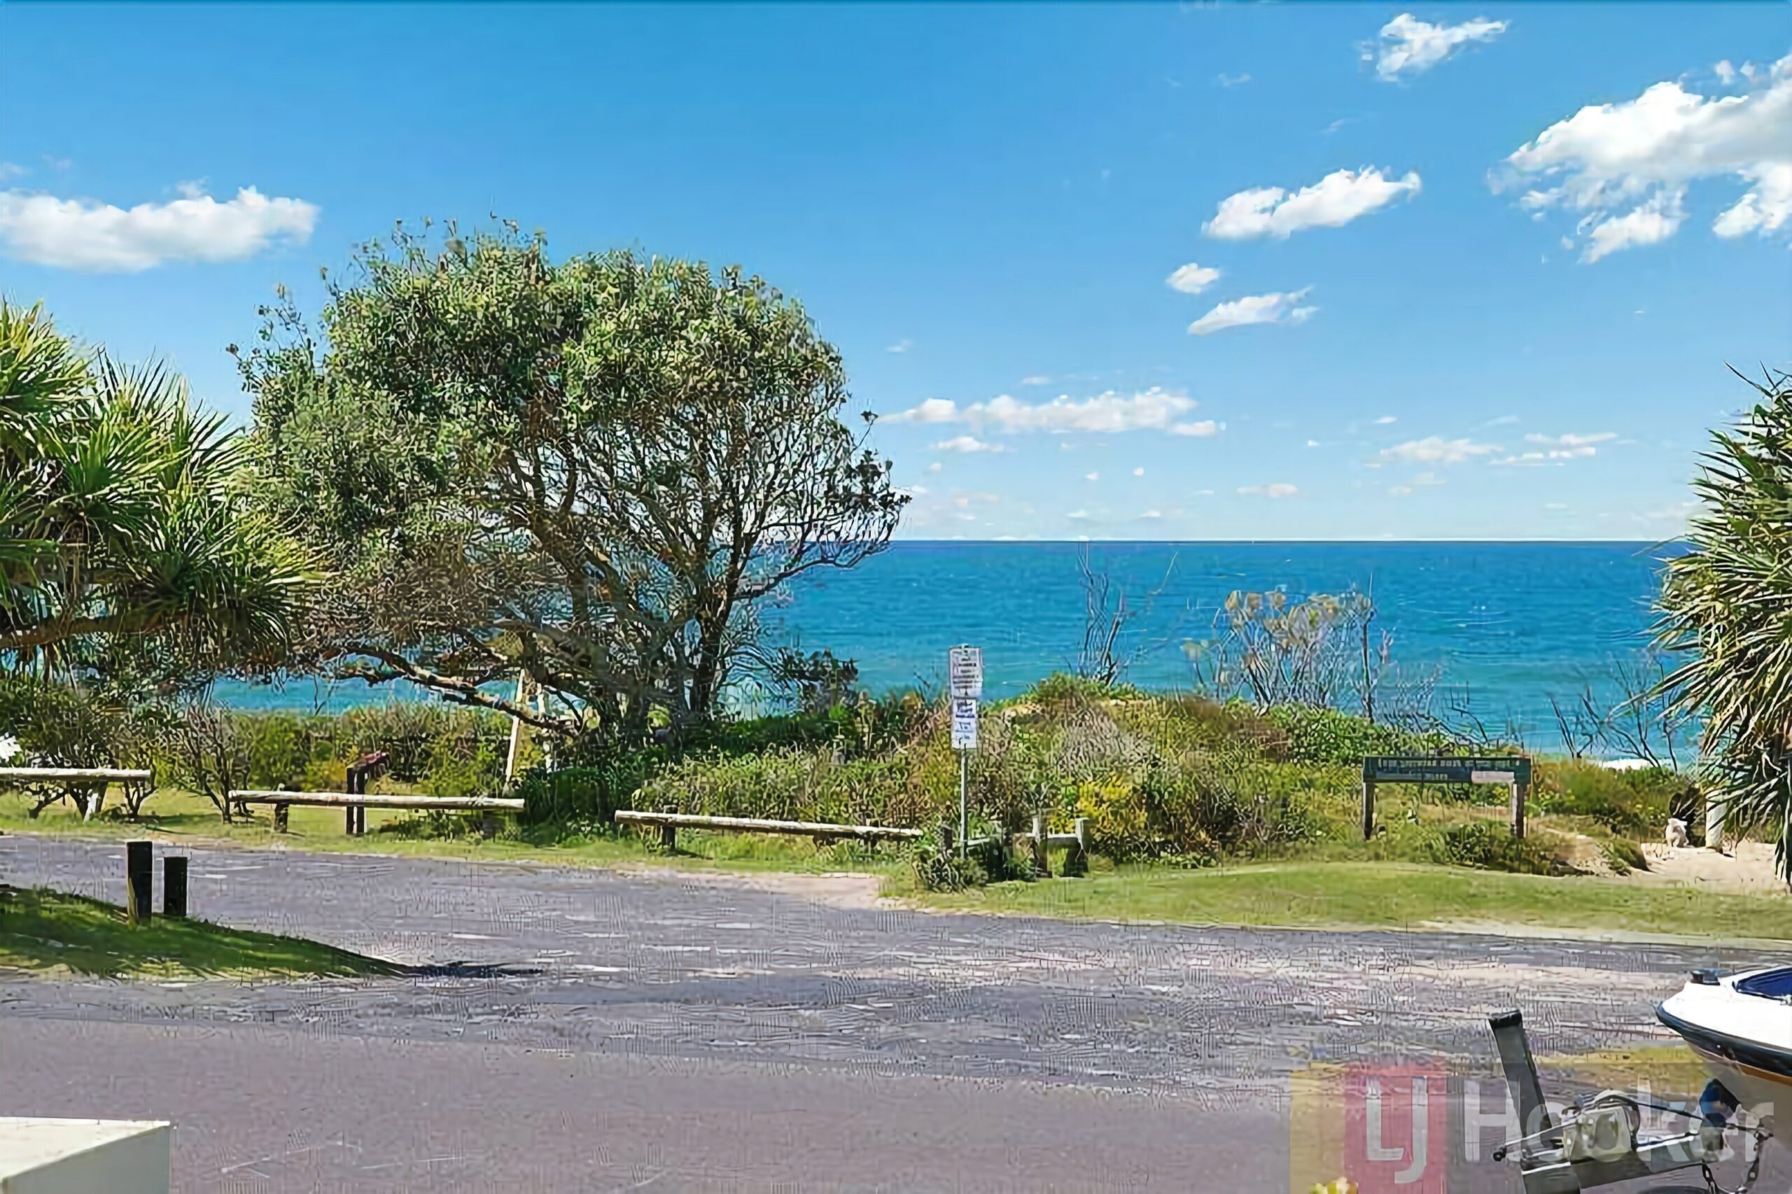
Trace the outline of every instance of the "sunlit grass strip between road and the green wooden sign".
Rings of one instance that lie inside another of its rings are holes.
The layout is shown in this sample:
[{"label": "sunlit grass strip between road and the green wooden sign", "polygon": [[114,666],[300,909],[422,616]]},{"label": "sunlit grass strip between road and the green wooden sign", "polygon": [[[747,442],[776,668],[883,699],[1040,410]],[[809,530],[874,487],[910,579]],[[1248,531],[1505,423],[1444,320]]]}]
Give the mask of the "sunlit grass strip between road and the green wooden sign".
[{"label": "sunlit grass strip between road and the green wooden sign", "polygon": [[[896,887],[892,886],[892,893]],[[1274,862],[1211,870],[1097,868],[1088,878],[900,891],[939,909],[1202,925],[1423,929],[1512,925],[1563,936],[1792,939],[1792,900],[1615,878],[1507,875],[1401,862]]]}]

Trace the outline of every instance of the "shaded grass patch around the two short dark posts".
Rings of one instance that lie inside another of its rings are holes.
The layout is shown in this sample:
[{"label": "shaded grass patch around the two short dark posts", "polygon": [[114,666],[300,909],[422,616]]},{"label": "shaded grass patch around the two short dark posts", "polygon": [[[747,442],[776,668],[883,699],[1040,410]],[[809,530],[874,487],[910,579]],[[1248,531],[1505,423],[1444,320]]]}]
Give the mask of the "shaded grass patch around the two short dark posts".
[{"label": "shaded grass patch around the two short dark posts", "polygon": [[202,920],[129,925],[124,909],[43,887],[0,887],[0,968],[106,979],[265,979],[398,973],[317,941]]}]

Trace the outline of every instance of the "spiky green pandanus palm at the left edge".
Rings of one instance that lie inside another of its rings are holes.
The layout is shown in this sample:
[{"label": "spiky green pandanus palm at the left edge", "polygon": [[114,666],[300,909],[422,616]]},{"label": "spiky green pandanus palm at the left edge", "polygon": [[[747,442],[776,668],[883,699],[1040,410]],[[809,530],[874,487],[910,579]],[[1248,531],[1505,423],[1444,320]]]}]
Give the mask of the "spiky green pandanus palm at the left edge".
[{"label": "spiky green pandanus palm at the left edge", "polygon": [[90,359],[0,303],[0,662],[127,636],[195,669],[278,663],[310,572],[244,475],[242,439],[177,375]]}]

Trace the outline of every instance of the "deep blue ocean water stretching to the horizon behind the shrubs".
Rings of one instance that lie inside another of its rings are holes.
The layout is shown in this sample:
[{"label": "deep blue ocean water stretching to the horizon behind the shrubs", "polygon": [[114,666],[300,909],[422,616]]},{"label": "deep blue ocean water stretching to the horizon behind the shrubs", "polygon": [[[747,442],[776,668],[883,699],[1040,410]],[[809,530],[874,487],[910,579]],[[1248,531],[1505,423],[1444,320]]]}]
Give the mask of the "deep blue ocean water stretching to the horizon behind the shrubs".
[{"label": "deep blue ocean water stretching to the horizon behind the shrubs", "polygon": [[[849,572],[799,577],[769,611],[771,629],[806,651],[858,662],[874,692],[937,687],[946,649],[984,649],[986,696],[1021,692],[1066,667],[1082,635],[1079,543],[901,541]],[[1554,742],[1548,696],[1582,685],[1611,696],[1613,658],[1647,640],[1661,563],[1656,543],[1091,543],[1095,568],[1142,602],[1149,644],[1127,679],[1188,688],[1185,640],[1206,638],[1235,590],[1290,595],[1373,592],[1376,626],[1403,669],[1439,669],[1452,701],[1466,694],[1493,726],[1509,721],[1539,748]],[[235,705],[310,708],[383,699],[385,690],[310,683],[231,687]],[[1443,712],[1443,710],[1439,710]]]}]

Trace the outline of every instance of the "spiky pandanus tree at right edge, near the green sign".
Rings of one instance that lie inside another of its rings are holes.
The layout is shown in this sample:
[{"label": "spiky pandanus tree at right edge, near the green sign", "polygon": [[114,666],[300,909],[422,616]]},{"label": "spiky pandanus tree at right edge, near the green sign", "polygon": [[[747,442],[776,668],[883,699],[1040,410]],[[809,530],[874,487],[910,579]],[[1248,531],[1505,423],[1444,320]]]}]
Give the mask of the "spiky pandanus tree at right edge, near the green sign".
[{"label": "spiky pandanus tree at right edge, near the green sign", "polygon": [[1711,434],[1690,550],[1667,565],[1658,642],[1684,662],[1670,714],[1701,719],[1701,769],[1733,832],[1770,828],[1792,877],[1792,376]]}]

